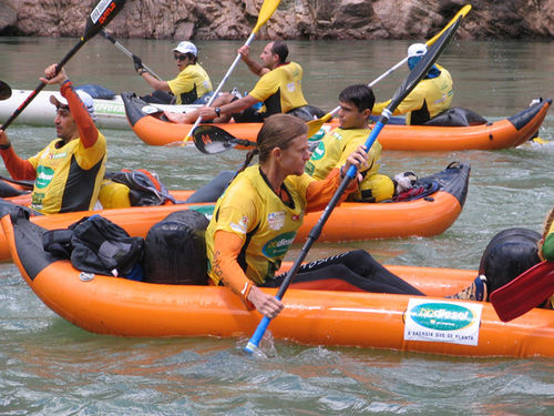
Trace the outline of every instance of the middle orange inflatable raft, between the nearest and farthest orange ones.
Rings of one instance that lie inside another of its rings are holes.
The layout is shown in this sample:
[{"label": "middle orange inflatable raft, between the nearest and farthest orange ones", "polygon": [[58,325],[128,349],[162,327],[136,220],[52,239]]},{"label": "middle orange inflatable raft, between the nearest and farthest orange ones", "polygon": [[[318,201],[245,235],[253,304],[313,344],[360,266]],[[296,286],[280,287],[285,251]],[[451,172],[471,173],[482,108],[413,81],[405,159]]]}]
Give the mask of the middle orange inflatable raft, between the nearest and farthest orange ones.
[{"label": "middle orange inflatable raft, between the nearest and farthest orange ones", "polygon": [[[433,184],[437,190],[427,196],[382,203],[343,202],[337,206],[327,221],[320,242],[362,241],[371,239],[407,237],[412,235],[432,236],[448,230],[461,214],[468,195],[470,166],[451,163],[445,170],[430,176],[420,177],[419,184]],[[173,191],[178,201],[184,201],[193,191]],[[6,199],[25,205],[29,195]],[[0,205],[1,206],[1,205]],[[9,210],[11,204],[3,204]],[[120,224],[130,235],[145,237],[150,227],[172,212],[195,210],[211,217],[215,204],[172,204],[161,206],[133,206],[90,212],[73,212],[31,216],[31,221],[42,227],[64,229],[83,216],[100,214]],[[296,242],[302,243],[316,225],[321,212],[306,215]],[[0,261],[10,260],[4,235],[0,232]]]}]

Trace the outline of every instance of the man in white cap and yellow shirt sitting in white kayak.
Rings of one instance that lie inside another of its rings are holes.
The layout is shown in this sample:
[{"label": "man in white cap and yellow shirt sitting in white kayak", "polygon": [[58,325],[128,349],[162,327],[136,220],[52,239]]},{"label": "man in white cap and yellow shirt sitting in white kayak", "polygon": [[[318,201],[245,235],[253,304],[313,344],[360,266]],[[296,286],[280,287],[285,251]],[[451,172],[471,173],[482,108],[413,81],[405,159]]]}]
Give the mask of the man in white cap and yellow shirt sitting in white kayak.
[{"label": "man in white cap and yellow shirt sitting in white kayak", "polygon": [[[173,49],[177,61],[178,74],[171,81],[158,80],[146,71],[138,57],[133,55],[136,72],[155,92],[143,97],[145,101],[174,104],[205,104],[212,97],[212,81],[197,63],[198,49],[194,43],[184,41]],[[171,95],[168,94],[171,93]]]}]

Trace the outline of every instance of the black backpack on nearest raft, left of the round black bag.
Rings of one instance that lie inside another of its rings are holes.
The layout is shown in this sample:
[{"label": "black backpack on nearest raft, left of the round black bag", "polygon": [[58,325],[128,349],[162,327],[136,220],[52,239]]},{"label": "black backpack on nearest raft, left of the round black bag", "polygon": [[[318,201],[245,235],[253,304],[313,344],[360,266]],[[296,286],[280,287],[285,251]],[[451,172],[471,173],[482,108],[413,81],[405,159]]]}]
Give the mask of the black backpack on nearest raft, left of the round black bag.
[{"label": "black backpack on nearest raft, left of the round black bag", "polygon": [[66,230],[47,231],[42,245],[54,255],[70,258],[80,271],[142,280],[144,239],[131,237],[98,214],[85,216]]}]

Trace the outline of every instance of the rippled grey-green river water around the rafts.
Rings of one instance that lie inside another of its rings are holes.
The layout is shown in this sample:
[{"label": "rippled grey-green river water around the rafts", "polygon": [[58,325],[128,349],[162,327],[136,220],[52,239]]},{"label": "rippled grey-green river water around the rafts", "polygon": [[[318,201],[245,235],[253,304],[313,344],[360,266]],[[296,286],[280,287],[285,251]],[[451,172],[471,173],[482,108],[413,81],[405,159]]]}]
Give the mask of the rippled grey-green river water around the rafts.
[{"label": "rippled grey-green river water around the rafts", "polygon": [[[33,89],[43,68],[59,61],[76,39],[0,38],[0,79]],[[168,41],[121,40],[164,79],[176,68]],[[240,42],[197,43],[215,84]],[[263,42],[253,43],[256,55]],[[351,83],[369,83],[400,61],[407,41],[289,42],[305,69],[308,101],[331,110]],[[454,79],[454,103],[491,121],[515,114],[533,98],[554,95],[554,42],[454,40],[439,63]],[[133,64],[101,37],[66,65],[75,84],[99,83],[115,92],[148,92]],[[406,77],[399,69],[376,87],[390,98]],[[249,90],[243,64],[227,82]],[[13,124],[9,136],[21,156],[42,149],[53,128]],[[235,169],[238,151],[206,156],[194,148],[150,148],[130,131],[104,131],[109,169],[146,168],[171,189],[197,187],[222,169]],[[554,112],[540,135],[554,140]],[[465,207],[442,235],[316,244],[308,258],[352,247],[382,263],[475,270],[490,239],[513,226],[541,231],[554,203],[554,143],[503,151],[383,152],[388,174],[419,175],[451,161],[470,163]],[[6,170],[0,170],[6,174]],[[298,253],[294,250],[288,260]],[[286,301],[286,297],[285,297]],[[373,331],[368,327],[367,331]],[[240,354],[245,339],[133,339],[99,336],[60,318],[21,280],[0,265],[0,414],[2,415],[546,415],[554,414],[550,359],[445,357],[362,348],[275,343],[267,358]],[[553,346],[554,347],[554,346]]]}]

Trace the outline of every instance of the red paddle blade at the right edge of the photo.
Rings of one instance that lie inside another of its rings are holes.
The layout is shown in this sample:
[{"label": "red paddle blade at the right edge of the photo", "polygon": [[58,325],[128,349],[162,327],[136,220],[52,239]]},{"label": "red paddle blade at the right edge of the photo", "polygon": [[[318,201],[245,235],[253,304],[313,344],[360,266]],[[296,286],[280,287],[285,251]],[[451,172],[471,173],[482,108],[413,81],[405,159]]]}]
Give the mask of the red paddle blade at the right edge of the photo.
[{"label": "red paddle blade at the right edge of the photo", "polygon": [[499,287],[489,296],[502,322],[538,306],[554,294],[554,262],[542,262]]}]

